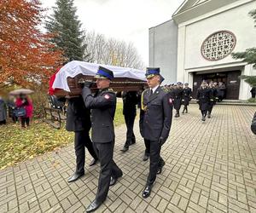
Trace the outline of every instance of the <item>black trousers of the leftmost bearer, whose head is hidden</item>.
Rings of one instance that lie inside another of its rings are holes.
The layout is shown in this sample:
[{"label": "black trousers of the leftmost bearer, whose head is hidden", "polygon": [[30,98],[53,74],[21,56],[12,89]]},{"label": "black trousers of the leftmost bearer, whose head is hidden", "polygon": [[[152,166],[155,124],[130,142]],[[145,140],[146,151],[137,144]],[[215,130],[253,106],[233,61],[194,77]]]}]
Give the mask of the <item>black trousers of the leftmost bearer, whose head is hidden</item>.
[{"label": "black trousers of the leftmost bearer, whose head is hidden", "polygon": [[85,147],[88,149],[90,155],[97,159],[96,153],[92,147],[92,142],[90,141],[89,131],[75,131],[74,149],[77,163],[76,172],[79,174],[84,174]]}]

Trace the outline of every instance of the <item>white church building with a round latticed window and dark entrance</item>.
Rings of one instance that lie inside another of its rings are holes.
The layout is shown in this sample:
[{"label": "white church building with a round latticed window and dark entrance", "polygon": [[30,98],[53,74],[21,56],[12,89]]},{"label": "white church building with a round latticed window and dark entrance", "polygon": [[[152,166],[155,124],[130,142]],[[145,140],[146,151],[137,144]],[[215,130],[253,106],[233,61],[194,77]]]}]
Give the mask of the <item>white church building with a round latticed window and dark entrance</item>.
[{"label": "white church building with a round latticed window and dark entrance", "polygon": [[189,83],[195,95],[201,81],[224,82],[226,99],[247,100],[250,86],[241,75],[252,65],[231,53],[256,47],[256,28],[248,14],[256,0],[186,0],[167,20],[149,29],[149,66],[159,66],[165,83]]}]

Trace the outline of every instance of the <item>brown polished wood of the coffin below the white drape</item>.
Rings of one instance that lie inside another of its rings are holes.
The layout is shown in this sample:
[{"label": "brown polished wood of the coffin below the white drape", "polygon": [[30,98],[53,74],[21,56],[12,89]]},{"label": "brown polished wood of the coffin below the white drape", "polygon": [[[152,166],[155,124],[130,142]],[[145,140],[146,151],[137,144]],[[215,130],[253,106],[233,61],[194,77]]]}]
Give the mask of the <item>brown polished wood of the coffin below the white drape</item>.
[{"label": "brown polished wood of the coffin below the white drape", "polygon": [[[67,78],[67,84],[71,92],[67,92],[63,89],[56,89],[56,96],[66,96],[75,97],[81,94],[82,92],[82,84],[85,81],[94,81],[95,78],[92,76],[85,76],[83,74],[79,74],[74,78]],[[134,79],[134,78],[114,78],[110,83],[110,88],[115,92],[120,91],[139,91],[148,87],[148,84],[142,80]],[[92,92],[96,92],[96,84],[91,88]]]}]

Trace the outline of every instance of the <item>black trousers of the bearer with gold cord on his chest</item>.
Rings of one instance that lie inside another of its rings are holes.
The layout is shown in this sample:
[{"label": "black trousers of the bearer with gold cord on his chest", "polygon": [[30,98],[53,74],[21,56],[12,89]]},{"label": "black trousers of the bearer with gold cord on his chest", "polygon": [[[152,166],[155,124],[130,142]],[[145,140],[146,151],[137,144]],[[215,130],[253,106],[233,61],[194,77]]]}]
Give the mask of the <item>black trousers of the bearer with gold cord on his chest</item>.
[{"label": "black trousers of the bearer with gold cord on his chest", "polygon": [[160,157],[161,146],[159,141],[149,141],[144,139],[146,149],[149,149],[150,153],[150,164],[149,164],[149,174],[147,179],[147,185],[153,185],[156,179],[156,173],[159,167],[164,164],[163,158]]}]

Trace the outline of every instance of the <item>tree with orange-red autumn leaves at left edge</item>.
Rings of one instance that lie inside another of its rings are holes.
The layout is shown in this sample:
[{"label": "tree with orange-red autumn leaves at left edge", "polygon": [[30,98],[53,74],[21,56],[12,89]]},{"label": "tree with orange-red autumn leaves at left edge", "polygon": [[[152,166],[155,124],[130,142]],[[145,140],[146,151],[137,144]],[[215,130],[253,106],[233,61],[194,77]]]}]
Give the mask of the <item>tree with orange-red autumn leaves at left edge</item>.
[{"label": "tree with orange-red autumn leaves at left edge", "polygon": [[38,30],[44,18],[38,0],[0,1],[0,87],[32,86],[48,81],[61,51]]}]

